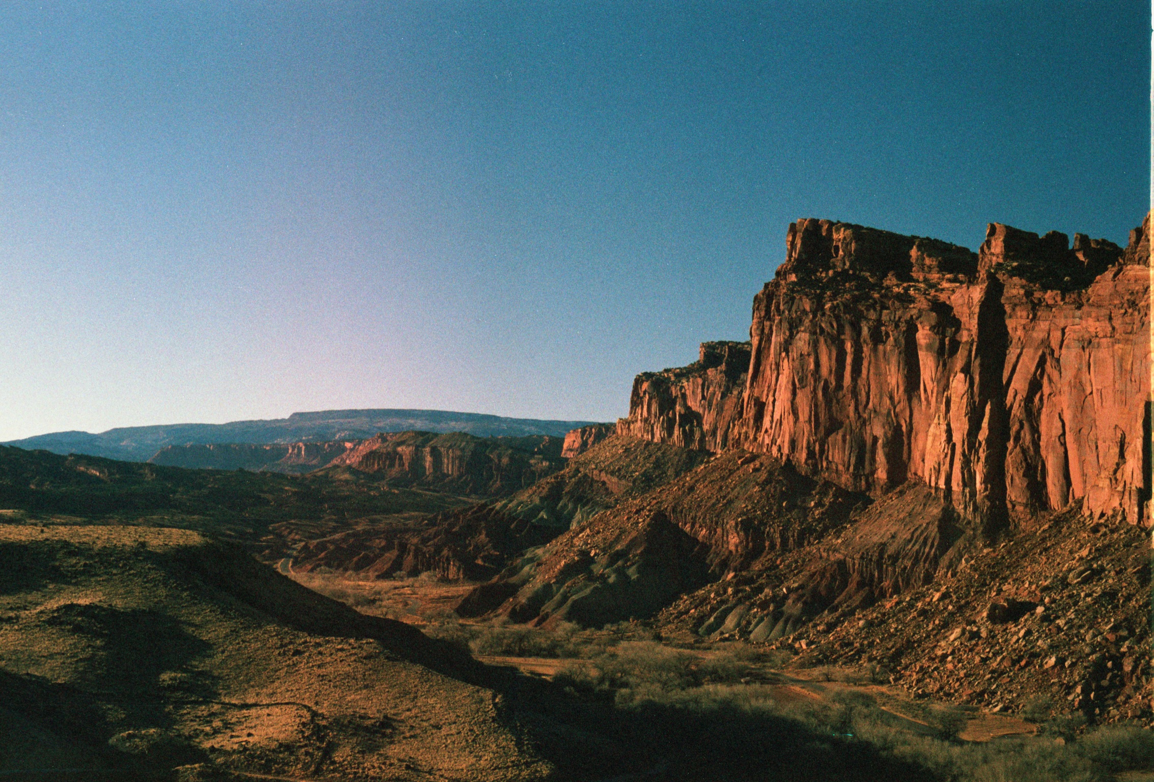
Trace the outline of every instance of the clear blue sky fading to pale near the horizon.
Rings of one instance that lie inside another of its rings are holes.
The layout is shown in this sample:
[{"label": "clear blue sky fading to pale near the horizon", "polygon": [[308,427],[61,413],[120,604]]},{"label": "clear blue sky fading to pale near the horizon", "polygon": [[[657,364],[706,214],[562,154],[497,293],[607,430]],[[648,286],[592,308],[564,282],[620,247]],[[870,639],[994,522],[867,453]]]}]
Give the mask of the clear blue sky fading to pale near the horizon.
[{"label": "clear blue sky fading to pale near the horizon", "polygon": [[0,6],[0,439],[612,420],[789,221],[1125,243],[1149,5]]}]

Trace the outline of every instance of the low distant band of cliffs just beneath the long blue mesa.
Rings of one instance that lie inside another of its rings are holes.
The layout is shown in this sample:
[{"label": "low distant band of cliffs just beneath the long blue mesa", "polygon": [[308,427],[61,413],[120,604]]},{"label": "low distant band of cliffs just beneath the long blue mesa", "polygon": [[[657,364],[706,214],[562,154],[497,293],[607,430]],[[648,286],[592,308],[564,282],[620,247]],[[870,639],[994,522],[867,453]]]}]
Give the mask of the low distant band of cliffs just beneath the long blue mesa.
[{"label": "low distant band of cliffs just beneath the long blue mesa", "polygon": [[357,445],[357,441],[253,445],[210,443],[165,445],[149,464],[192,469],[250,469],[301,474],[327,467]]}]

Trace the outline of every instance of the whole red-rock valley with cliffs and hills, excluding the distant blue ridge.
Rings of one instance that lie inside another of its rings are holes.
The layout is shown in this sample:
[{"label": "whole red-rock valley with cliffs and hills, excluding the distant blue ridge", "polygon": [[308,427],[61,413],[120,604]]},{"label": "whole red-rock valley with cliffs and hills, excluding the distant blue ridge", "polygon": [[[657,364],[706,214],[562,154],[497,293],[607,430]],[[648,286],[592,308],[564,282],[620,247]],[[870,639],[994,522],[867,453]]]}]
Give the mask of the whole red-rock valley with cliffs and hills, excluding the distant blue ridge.
[{"label": "whole red-rock valley with cliffs and hills, excluding the distant blue ridge", "polygon": [[0,446],[0,772],[1149,779],[1148,232],[800,220],[616,424]]}]

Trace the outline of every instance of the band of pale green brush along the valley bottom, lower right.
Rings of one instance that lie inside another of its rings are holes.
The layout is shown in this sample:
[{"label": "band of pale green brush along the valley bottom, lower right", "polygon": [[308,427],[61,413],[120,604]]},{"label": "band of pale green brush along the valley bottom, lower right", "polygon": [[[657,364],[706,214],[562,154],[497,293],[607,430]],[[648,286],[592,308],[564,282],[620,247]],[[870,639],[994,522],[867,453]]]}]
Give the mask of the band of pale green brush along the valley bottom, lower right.
[{"label": "band of pale green brush along the valley bottom, lower right", "polygon": [[[574,663],[555,681],[578,691],[612,695],[616,713],[631,715],[660,736],[673,736],[687,724],[698,725],[702,732],[685,732],[682,738],[697,742],[703,751],[707,746],[714,757],[756,753],[770,735],[764,729],[770,727],[784,730],[782,735],[810,737],[807,740],[824,737],[826,750],[847,757],[857,752],[885,759],[896,768],[920,769],[906,779],[1106,782],[1110,779],[1108,768],[1137,768],[1147,757],[1146,745],[1133,729],[1103,729],[1077,745],[1044,739],[957,742],[952,739],[965,725],[965,713],[953,707],[922,705],[919,716],[934,728],[932,735],[924,735],[883,710],[868,693],[845,690],[831,693],[827,702],[779,702],[770,686],[702,685],[691,661],[640,645],[630,647],[613,660]],[[620,689],[607,689],[612,684]]]}]

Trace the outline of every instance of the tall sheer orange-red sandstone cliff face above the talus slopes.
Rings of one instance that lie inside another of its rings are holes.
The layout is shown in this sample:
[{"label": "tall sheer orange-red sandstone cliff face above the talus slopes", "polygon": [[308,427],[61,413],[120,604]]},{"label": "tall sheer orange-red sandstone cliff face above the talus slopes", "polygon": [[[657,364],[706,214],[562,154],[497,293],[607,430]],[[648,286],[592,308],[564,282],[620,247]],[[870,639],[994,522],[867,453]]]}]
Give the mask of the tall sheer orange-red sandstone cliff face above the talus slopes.
[{"label": "tall sheer orange-red sandstone cliff face above the talus slopes", "polygon": [[975,255],[800,220],[754,301],[744,388],[704,361],[640,375],[619,430],[744,448],[874,496],[921,482],[994,526],[1073,502],[1148,522],[1148,231],[1071,248],[991,224]]}]

